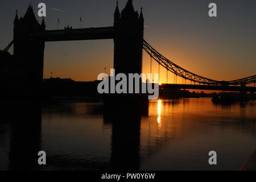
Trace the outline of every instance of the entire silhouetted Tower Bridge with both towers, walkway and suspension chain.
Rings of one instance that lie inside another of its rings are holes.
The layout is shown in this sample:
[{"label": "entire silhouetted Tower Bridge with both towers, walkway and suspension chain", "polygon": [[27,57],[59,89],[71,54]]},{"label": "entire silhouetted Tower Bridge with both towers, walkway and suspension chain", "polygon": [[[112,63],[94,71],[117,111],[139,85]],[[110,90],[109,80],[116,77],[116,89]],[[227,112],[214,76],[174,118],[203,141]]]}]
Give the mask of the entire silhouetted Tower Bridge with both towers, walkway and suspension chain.
[{"label": "entire silhouetted Tower Bridge with both towers, walkway and suspension chain", "polygon": [[[167,73],[172,72],[176,77],[179,76],[184,80],[194,83],[194,85],[175,84],[169,86],[210,90],[242,89],[245,91],[254,90],[255,92],[256,75],[232,81],[218,81],[199,76],[179,67],[179,65],[161,55],[143,39],[143,34],[144,17],[142,9],[141,13],[135,11],[132,0],[127,1],[125,8],[121,12],[117,3],[114,12],[114,26],[79,29],[71,27],[64,30],[46,30],[44,19],[41,24],[38,23],[30,5],[23,18],[18,18],[16,13],[14,19],[14,39],[4,50],[8,51],[11,45],[14,45],[14,71],[11,73],[11,76],[6,77],[14,77],[15,80],[22,82],[42,82],[45,42],[113,39],[114,69],[117,74],[141,74],[142,53],[144,49],[150,55],[151,63],[152,60],[155,60],[159,66],[167,69]],[[254,84],[254,89],[253,87],[246,86],[248,84]],[[238,86],[241,86],[241,88],[237,89]]]}]

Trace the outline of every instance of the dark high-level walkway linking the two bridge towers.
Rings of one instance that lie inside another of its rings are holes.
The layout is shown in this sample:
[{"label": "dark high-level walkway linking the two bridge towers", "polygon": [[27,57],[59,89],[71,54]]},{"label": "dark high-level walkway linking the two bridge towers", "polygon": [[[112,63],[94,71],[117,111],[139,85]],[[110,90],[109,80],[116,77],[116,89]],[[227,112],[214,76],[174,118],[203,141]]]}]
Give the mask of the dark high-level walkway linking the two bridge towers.
[{"label": "dark high-level walkway linking the two bridge towers", "polygon": [[44,42],[113,38],[114,27],[80,29],[66,28],[64,30],[46,30],[45,32],[31,35],[31,39],[40,40]]}]

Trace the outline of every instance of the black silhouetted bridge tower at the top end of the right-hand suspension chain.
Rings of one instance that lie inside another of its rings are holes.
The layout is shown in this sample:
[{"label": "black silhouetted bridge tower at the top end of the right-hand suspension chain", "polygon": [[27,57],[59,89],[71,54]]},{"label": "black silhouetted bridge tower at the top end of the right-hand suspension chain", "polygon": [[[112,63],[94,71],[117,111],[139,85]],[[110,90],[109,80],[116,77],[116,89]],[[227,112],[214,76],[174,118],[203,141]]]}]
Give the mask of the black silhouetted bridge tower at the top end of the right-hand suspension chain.
[{"label": "black silhouetted bridge tower at the top end of the right-hand suspension chain", "polygon": [[115,73],[142,73],[144,18],[134,10],[129,0],[119,13],[114,13],[114,68]]}]

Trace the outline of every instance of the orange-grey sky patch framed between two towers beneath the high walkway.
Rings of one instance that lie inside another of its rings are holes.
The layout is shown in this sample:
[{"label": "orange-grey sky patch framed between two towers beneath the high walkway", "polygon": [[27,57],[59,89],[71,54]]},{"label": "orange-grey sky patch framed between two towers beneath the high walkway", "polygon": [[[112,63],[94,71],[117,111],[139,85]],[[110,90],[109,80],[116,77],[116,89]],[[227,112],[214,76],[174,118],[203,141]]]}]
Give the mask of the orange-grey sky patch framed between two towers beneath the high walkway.
[{"label": "orange-grey sky patch framed between two towers beneath the high walkway", "polygon": [[104,73],[105,68],[106,73],[113,68],[113,46],[113,40],[47,42],[44,50],[44,78],[97,80],[98,74]]}]

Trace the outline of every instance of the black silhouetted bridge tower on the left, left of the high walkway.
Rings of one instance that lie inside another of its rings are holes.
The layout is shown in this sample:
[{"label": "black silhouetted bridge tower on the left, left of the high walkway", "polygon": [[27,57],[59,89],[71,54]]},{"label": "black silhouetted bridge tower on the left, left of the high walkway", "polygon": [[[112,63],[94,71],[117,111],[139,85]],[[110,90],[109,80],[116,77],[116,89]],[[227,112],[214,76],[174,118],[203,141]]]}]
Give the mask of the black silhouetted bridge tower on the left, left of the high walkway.
[{"label": "black silhouetted bridge tower on the left, left of the high walkway", "polygon": [[38,23],[31,5],[28,6],[23,18],[18,19],[16,13],[14,20],[14,69],[19,81],[43,81],[44,42],[32,40],[30,37],[45,30],[44,19],[42,24]]}]

